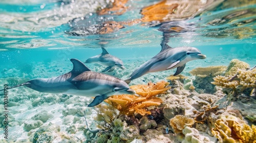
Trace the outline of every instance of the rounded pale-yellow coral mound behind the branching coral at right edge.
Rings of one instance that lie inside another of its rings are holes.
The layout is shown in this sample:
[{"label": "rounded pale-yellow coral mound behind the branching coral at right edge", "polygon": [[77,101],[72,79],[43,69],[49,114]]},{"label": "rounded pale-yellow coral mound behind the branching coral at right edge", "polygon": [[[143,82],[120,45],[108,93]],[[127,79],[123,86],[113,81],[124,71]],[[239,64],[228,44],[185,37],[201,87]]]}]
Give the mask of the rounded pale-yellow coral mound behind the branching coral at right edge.
[{"label": "rounded pale-yellow coral mound behind the branching coral at right edge", "polygon": [[234,76],[238,73],[238,69],[247,70],[250,68],[250,65],[246,62],[240,61],[238,59],[232,59],[225,71],[225,76]]}]

